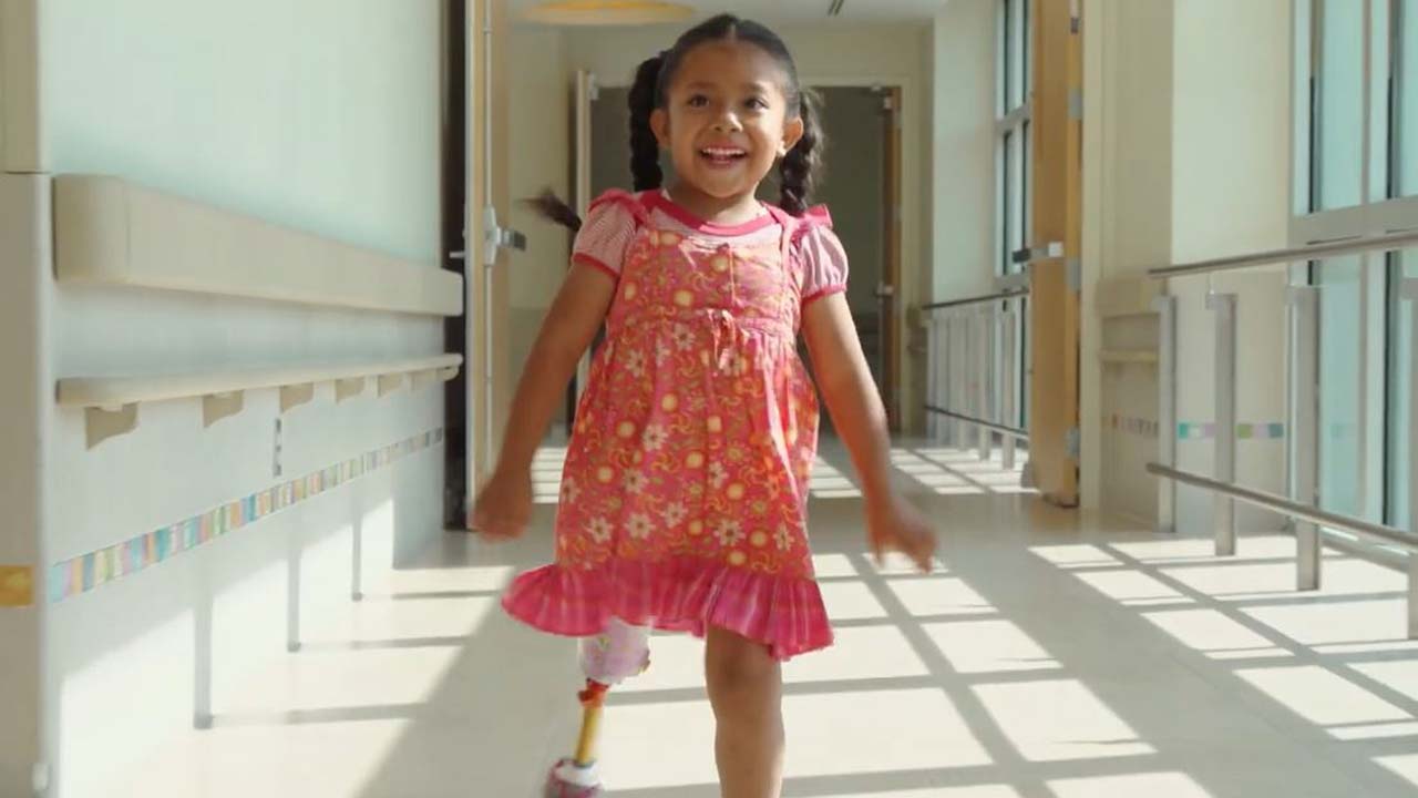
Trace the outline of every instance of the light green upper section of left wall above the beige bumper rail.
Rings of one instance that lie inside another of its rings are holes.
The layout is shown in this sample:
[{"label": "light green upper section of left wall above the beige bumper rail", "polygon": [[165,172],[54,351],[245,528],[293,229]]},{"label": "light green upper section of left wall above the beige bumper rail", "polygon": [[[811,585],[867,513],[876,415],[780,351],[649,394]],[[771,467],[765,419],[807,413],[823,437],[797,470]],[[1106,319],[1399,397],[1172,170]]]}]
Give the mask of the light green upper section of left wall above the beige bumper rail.
[{"label": "light green upper section of left wall above the beige bumper rail", "polygon": [[48,172],[431,260],[438,0],[44,0]]}]

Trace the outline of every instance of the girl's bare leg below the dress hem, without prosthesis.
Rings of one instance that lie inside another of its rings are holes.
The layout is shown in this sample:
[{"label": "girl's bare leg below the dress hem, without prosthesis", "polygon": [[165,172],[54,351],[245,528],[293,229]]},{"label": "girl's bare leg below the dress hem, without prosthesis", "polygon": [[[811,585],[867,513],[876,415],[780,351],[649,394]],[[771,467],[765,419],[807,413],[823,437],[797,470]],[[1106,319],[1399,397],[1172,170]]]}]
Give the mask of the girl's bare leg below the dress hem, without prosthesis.
[{"label": "girl's bare leg below the dress hem, without prosthesis", "polygon": [[718,730],[723,798],[778,798],[783,789],[783,669],[769,649],[709,629],[705,682]]}]

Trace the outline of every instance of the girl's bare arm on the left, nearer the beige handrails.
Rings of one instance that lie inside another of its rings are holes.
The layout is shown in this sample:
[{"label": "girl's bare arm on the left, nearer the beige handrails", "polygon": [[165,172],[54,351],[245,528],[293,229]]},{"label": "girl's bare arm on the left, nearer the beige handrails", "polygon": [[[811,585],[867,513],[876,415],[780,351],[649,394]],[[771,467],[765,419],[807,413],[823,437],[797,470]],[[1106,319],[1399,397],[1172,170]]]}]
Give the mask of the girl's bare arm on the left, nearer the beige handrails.
[{"label": "girl's bare arm on the left, nearer the beige handrails", "polygon": [[492,479],[478,494],[472,528],[495,538],[516,537],[526,528],[532,515],[532,460],[614,297],[615,281],[605,273],[571,267],[522,369],[502,452]]}]

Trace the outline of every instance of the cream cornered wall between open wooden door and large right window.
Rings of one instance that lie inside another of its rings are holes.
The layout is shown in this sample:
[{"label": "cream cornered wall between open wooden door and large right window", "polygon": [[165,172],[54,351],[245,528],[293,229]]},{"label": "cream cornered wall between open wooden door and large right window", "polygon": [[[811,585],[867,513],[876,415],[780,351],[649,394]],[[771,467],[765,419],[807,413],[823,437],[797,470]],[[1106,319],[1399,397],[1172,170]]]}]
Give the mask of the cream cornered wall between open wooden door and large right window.
[{"label": "cream cornered wall between open wooden door and large right window", "polygon": [[[1085,7],[1085,308],[1099,280],[1286,244],[1289,3],[1092,3]],[[1224,24],[1218,24],[1224,20]],[[1269,33],[1268,33],[1269,31]],[[1283,420],[1283,277],[1217,275],[1239,302],[1238,420]],[[1178,297],[1178,420],[1214,413],[1214,321],[1205,278],[1174,280]],[[1141,476],[1156,440],[1112,429],[1112,416],[1156,420],[1156,369],[1107,366],[1103,348],[1146,348],[1150,318],[1083,321],[1083,501],[1137,518],[1156,513]],[[1176,430],[1159,430],[1176,434]],[[1210,473],[1211,440],[1178,442],[1180,467]],[[1283,491],[1283,442],[1238,442],[1238,477]],[[1208,494],[1178,491],[1178,527],[1210,531]],[[1242,530],[1278,521],[1242,510]]]}]

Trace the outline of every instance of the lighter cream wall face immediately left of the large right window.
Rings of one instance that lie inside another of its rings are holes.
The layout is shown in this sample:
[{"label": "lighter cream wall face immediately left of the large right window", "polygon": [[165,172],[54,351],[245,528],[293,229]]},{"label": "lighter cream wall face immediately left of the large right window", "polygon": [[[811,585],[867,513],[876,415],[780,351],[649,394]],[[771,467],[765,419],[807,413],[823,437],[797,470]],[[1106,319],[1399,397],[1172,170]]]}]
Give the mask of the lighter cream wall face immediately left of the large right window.
[{"label": "lighter cream wall face immediately left of the large right window", "polygon": [[[1288,246],[1290,173],[1290,1],[1187,0],[1176,4],[1173,97],[1173,241],[1177,263]],[[1218,26],[1218,18],[1225,18]],[[1276,35],[1276,34],[1280,35]],[[1173,281],[1180,373],[1214,362],[1214,321],[1205,312],[1205,278]],[[1236,420],[1285,420],[1285,293],[1282,268],[1221,274],[1218,293],[1236,294]],[[1211,381],[1180,383],[1180,420],[1211,420]],[[1183,469],[1208,473],[1211,442],[1178,446]],[[1236,442],[1241,483],[1283,494],[1285,440]],[[1242,531],[1278,528],[1282,520],[1251,507]],[[1210,528],[1211,497],[1183,490],[1178,525]]]}]

